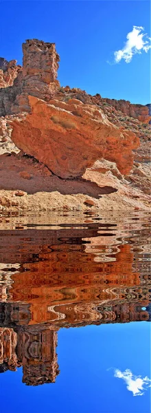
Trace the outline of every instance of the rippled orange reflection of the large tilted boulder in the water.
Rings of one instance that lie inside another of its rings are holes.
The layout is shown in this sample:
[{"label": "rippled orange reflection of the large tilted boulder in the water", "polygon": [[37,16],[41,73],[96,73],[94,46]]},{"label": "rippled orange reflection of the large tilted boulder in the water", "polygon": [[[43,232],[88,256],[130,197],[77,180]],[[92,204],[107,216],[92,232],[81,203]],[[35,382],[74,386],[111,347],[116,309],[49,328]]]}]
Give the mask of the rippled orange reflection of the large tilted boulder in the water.
[{"label": "rippled orange reflection of the large tilted boulder in the water", "polygon": [[12,275],[11,301],[30,304],[30,324],[63,318],[62,306],[125,300],[125,288],[141,284],[139,273],[132,271],[133,253],[128,244],[119,246],[113,262],[96,262],[80,245],[76,251],[67,244],[51,246],[51,250],[34,255],[34,262],[23,264],[21,273]]}]

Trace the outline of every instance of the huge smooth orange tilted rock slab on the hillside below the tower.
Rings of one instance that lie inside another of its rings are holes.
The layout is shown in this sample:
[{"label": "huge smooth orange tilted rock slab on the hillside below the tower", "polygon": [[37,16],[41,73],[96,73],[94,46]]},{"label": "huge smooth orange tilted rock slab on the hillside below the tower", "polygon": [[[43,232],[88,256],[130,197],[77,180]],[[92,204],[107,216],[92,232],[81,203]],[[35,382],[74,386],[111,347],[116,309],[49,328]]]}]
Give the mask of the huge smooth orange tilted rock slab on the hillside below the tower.
[{"label": "huge smooth orange tilted rock slab on the hillside below the tower", "polygon": [[98,158],[117,162],[122,173],[132,167],[132,149],[139,139],[117,129],[94,105],[76,99],[67,103],[29,96],[31,114],[12,121],[12,140],[25,153],[43,162],[60,178],[81,176]]}]

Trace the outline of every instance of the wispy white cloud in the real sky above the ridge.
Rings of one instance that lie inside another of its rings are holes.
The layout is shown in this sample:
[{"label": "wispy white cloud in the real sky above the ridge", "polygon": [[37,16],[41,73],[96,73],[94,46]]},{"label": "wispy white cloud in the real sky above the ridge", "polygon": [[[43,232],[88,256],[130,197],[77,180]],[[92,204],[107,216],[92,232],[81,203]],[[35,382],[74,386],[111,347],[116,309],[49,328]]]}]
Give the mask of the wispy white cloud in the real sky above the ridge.
[{"label": "wispy white cloud in the real sky above the ridge", "polygon": [[114,52],[115,63],[119,63],[121,59],[124,59],[126,63],[130,63],[132,56],[136,53],[141,53],[142,50],[148,53],[150,49],[150,37],[148,34],[143,33],[141,26],[133,26],[132,32],[129,32],[126,36],[126,43],[121,50]]}]

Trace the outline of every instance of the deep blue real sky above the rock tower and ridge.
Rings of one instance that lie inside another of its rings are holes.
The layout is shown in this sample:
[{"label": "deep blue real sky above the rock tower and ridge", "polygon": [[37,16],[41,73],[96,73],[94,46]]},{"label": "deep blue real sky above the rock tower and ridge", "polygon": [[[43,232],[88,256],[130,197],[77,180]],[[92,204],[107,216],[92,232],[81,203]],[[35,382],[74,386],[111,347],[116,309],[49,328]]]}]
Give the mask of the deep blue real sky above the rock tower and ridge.
[{"label": "deep blue real sky above the rock tower and ridge", "polygon": [[56,43],[61,85],[90,94],[150,103],[150,51],[135,54],[130,63],[113,62],[132,26],[150,36],[150,1],[0,1],[1,51],[22,62],[21,43],[40,39]]}]

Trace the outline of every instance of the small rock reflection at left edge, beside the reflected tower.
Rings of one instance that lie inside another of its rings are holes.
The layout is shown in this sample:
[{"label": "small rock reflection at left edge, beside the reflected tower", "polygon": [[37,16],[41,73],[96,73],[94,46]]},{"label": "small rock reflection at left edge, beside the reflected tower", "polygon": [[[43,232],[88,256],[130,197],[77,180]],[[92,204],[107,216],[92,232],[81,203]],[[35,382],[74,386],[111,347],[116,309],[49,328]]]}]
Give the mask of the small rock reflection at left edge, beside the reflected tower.
[{"label": "small rock reflection at left edge, beside the reflected tower", "polygon": [[12,328],[0,328],[0,372],[16,370],[16,332]]}]

